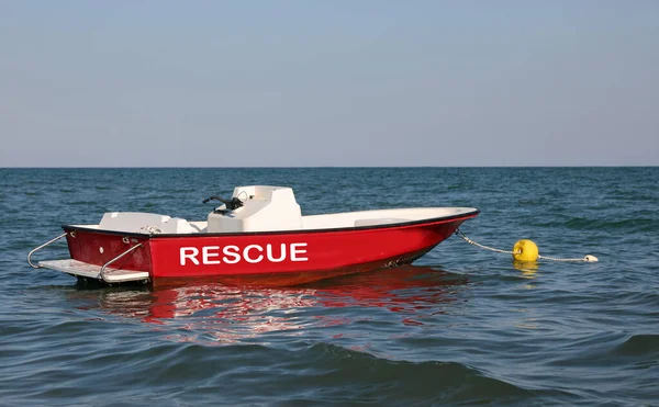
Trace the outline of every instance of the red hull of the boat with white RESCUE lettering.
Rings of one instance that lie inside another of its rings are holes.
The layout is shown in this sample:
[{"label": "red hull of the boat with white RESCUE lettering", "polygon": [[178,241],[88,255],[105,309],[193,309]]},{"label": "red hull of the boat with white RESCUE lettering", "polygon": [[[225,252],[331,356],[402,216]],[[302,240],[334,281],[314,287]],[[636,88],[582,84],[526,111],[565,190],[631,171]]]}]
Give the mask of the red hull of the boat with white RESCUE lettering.
[{"label": "red hull of the boat with white RESCUE lettering", "polygon": [[142,244],[113,267],[147,271],[153,282],[217,278],[282,285],[412,262],[477,215],[392,226],[258,234],[149,236],[78,226],[64,229],[71,258],[90,264],[102,265]]}]

